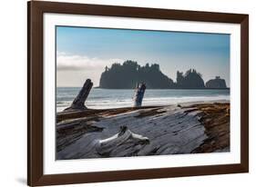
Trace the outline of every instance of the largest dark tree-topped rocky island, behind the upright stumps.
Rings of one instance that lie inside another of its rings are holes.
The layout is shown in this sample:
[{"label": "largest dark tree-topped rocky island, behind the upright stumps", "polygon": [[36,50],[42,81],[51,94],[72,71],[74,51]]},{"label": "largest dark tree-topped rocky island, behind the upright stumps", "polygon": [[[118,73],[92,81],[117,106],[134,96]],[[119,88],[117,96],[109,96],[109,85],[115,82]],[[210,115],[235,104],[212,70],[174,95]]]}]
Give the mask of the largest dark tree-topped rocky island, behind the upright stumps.
[{"label": "largest dark tree-topped rocky island, behind the upright stumps", "polygon": [[126,61],[123,64],[106,66],[101,74],[99,87],[108,89],[133,89],[137,83],[144,82],[148,89],[168,89],[173,81],[163,74],[159,64],[140,66],[137,62]]}]

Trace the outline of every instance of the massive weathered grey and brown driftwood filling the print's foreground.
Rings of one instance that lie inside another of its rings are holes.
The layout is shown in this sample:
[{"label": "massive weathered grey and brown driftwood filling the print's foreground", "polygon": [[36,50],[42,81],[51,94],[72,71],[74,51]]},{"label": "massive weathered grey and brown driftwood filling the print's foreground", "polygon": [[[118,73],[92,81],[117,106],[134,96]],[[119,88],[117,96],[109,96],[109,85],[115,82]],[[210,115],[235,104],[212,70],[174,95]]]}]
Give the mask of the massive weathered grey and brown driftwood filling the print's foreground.
[{"label": "massive weathered grey and brown driftwood filling the print's foreground", "polygon": [[56,159],[230,152],[230,102],[64,111]]}]

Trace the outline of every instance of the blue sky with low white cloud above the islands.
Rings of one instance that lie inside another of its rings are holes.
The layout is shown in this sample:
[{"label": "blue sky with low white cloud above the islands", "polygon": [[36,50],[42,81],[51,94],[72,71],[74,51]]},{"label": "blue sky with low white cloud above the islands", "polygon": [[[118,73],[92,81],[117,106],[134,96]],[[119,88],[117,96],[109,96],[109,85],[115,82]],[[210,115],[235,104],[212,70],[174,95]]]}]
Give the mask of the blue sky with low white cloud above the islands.
[{"label": "blue sky with low white cloud above the islands", "polygon": [[98,86],[105,66],[126,60],[159,64],[176,73],[196,69],[206,83],[220,76],[230,86],[230,34],[56,26],[56,86]]}]

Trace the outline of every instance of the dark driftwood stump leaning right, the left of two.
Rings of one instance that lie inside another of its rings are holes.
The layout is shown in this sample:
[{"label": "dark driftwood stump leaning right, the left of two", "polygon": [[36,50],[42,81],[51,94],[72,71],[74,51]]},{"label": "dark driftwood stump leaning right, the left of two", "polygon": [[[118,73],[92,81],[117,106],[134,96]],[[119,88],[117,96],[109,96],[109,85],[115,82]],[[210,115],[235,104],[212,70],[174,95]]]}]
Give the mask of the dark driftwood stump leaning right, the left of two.
[{"label": "dark driftwood stump leaning right, the left of two", "polygon": [[87,109],[87,106],[85,105],[85,102],[87,100],[87,96],[90,93],[90,90],[92,88],[93,83],[90,79],[87,79],[86,83],[80,90],[79,94],[77,94],[77,97],[73,101],[70,107],[65,109],[65,111],[69,110],[85,110]]}]

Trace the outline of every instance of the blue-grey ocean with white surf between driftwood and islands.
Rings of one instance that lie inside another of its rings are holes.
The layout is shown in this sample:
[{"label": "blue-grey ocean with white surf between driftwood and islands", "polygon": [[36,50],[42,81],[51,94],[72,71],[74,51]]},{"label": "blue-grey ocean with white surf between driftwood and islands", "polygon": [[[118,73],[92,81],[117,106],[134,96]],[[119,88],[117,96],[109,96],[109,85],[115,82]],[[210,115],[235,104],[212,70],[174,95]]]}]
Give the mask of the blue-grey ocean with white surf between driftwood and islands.
[{"label": "blue-grey ocean with white surf between driftwood and islands", "polygon": [[[80,87],[56,88],[56,112],[61,112],[73,102]],[[86,106],[92,109],[108,109],[132,106],[132,89],[98,89],[92,88],[87,97]],[[214,100],[230,101],[230,90],[226,89],[169,89],[146,90],[143,106],[169,105],[189,102],[206,102]]]}]

